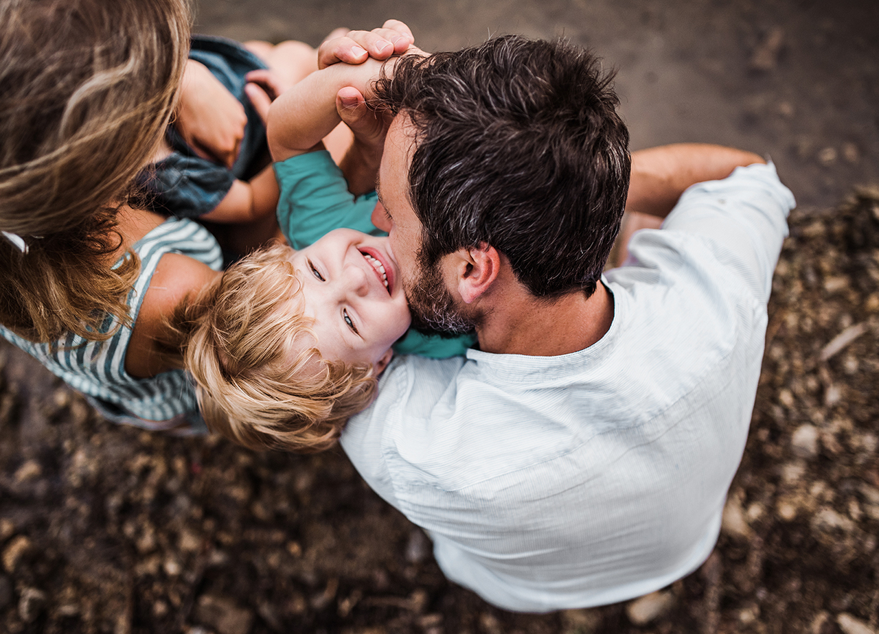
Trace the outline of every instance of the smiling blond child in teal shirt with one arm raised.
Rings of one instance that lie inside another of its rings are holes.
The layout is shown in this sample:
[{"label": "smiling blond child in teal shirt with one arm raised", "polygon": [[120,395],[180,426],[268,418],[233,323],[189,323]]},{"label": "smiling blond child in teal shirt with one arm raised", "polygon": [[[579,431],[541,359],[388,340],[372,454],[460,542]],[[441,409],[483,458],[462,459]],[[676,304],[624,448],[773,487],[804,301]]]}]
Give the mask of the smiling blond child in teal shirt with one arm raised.
[{"label": "smiling blond child in teal shirt with one arm raised", "polygon": [[[366,86],[381,64],[338,64],[279,98],[269,115],[278,161],[278,217],[298,251],[277,246],[229,267],[189,315],[185,367],[208,428],[254,449],[331,447],[367,407],[391,345],[410,325],[401,271],[369,216],[374,192],[354,198],[321,149],[338,124],[338,90]],[[332,227],[322,238],[305,246]],[[472,337],[414,331],[399,352],[463,354]]]}]

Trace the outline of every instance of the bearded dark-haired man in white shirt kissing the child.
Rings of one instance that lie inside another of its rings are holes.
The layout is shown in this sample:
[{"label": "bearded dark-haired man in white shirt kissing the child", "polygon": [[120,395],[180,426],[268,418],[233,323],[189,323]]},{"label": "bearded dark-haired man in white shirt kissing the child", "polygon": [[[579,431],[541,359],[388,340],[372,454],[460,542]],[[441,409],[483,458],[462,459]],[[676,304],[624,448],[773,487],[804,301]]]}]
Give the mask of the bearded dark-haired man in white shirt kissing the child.
[{"label": "bearded dark-haired man in white shirt kissing the child", "polygon": [[668,217],[602,277],[628,132],[590,54],[498,38],[404,57],[376,91],[396,116],[374,223],[422,327],[479,346],[393,361],[342,437],[353,464],[506,609],[690,573],[745,446],[790,192],[750,153],[636,152],[628,208]]}]

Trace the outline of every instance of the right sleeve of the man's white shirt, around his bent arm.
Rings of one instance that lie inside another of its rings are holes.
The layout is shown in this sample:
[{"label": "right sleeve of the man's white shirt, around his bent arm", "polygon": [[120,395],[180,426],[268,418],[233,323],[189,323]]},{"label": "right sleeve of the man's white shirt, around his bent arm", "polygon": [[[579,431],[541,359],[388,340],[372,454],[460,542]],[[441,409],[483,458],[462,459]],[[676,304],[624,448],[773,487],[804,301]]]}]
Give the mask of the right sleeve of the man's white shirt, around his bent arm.
[{"label": "right sleeve of the man's white shirt, around his bent arm", "polygon": [[723,180],[694,184],[662,228],[708,238],[717,259],[766,302],[795,204],[775,166],[756,163]]}]

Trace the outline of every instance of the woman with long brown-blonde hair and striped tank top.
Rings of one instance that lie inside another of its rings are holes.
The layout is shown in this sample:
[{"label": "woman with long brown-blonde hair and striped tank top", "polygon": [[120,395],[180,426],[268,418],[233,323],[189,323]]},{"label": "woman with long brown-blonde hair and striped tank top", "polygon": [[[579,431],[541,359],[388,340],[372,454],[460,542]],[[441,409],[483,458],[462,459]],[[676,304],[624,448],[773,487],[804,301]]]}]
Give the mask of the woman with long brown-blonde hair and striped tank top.
[{"label": "woman with long brown-blonde hair and striped tank top", "polygon": [[149,429],[200,422],[166,322],[221,265],[204,227],[129,204],[189,20],[185,0],[0,4],[0,335]]}]

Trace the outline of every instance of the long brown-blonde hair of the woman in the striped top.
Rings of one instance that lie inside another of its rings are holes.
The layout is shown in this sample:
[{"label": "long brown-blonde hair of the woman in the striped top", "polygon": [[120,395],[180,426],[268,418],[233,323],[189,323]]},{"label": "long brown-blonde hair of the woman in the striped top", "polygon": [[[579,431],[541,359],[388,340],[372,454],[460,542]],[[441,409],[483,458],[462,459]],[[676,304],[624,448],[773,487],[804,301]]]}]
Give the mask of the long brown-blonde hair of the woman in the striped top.
[{"label": "long brown-blonde hair of the woman in the striped top", "polygon": [[109,259],[116,212],[176,105],[190,19],[187,0],[0,3],[0,230],[26,245],[0,236],[0,323],[18,335],[130,322],[140,264]]}]

